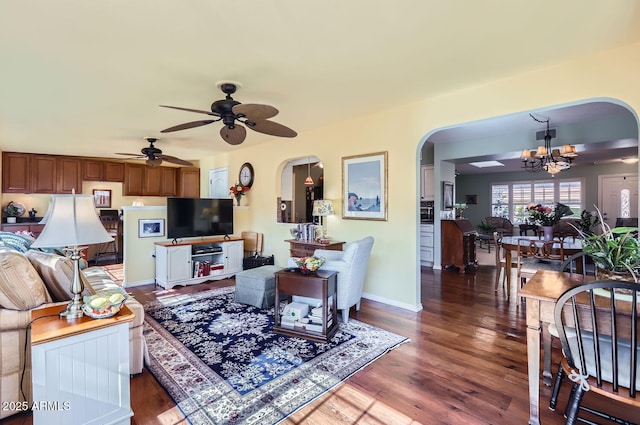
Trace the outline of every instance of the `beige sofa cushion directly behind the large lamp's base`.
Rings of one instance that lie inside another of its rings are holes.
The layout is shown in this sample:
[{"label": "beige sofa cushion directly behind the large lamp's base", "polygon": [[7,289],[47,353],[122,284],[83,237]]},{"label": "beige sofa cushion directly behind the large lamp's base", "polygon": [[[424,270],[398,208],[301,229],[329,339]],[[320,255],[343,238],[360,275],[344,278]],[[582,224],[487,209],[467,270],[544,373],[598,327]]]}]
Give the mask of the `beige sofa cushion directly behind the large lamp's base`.
[{"label": "beige sofa cushion directly behind the large lamp's base", "polygon": [[73,260],[71,258],[34,249],[30,249],[25,255],[42,277],[53,301],[68,301],[73,298],[71,293]]}]

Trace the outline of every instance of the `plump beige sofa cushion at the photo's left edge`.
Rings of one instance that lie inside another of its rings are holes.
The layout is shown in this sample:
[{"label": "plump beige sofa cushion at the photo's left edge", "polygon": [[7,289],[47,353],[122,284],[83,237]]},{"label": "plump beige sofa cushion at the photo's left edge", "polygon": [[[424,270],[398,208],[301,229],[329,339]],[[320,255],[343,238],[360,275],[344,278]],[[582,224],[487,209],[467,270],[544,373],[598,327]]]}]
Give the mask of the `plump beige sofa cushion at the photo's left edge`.
[{"label": "plump beige sofa cushion at the photo's left edge", "polygon": [[45,285],[27,257],[12,249],[0,251],[0,307],[30,310],[49,301]]}]

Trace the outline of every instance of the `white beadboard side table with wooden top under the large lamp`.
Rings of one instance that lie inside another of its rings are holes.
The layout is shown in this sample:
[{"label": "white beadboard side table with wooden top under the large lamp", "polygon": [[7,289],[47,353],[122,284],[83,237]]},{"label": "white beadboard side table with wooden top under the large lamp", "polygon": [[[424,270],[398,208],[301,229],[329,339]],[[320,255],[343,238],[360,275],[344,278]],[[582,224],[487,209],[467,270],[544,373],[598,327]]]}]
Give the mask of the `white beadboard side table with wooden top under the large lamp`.
[{"label": "white beadboard side table with wooden top under the large lamp", "polygon": [[34,425],[130,424],[129,322],[115,316],[66,320],[64,306],[33,310],[31,357]]}]

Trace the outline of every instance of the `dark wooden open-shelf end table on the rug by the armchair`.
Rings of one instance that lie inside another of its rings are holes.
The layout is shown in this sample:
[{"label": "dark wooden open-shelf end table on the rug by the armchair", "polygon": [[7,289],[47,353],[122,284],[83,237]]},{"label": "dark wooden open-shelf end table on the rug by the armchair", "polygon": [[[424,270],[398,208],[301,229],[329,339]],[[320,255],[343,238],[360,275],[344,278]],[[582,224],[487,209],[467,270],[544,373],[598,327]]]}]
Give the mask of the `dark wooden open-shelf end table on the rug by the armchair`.
[{"label": "dark wooden open-shelf end table on the rug by the armchair", "polygon": [[[276,272],[276,300],[280,299],[281,293],[287,295],[288,301],[291,301],[293,295],[321,300],[322,331],[314,332],[310,330],[283,328],[280,326],[280,308],[277,302],[275,305],[273,331],[285,335],[307,338],[313,341],[329,341],[338,330],[337,276],[338,272],[325,270],[318,270],[308,275],[302,274],[295,269],[293,271],[285,269]],[[331,310],[329,310],[329,298],[331,298]],[[329,311],[331,315],[329,315]],[[332,322],[327,326],[329,318],[332,319]]]}]

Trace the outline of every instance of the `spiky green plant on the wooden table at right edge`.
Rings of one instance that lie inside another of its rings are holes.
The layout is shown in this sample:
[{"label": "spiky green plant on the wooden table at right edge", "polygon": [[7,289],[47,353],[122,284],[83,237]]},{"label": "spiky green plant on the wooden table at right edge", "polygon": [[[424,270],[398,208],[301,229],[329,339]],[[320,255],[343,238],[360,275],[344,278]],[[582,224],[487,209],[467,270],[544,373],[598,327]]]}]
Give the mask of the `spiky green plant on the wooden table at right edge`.
[{"label": "spiky green plant on the wooden table at right edge", "polygon": [[[596,266],[598,279],[638,282],[640,272],[640,240],[637,227],[611,228],[602,220],[599,233],[587,233],[576,227],[582,238],[582,249]],[[574,226],[575,227],[575,226]]]}]

